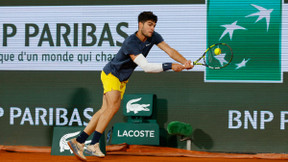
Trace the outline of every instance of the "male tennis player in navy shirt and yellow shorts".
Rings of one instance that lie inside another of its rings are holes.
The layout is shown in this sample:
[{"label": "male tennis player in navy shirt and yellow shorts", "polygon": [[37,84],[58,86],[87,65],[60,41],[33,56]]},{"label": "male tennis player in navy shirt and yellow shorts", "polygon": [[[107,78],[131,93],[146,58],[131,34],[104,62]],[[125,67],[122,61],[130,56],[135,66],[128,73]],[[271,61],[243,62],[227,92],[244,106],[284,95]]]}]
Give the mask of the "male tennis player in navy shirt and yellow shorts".
[{"label": "male tennis player in navy shirt and yellow shorts", "polygon": [[[105,156],[99,148],[100,137],[119,110],[128,79],[137,66],[147,73],[159,73],[169,69],[179,72],[193,68],[190,60],[186,60],[179,52],[166,44],[161,35],[154,31],[156,23],[157,16],[152,12],[140,13],[138,31],[125,39],[117,55],[104,67],[101,73],[104,88],[102,107],[93,115],[84,131],[77,138],[68,141],[71,150],[80,160],[86,160],[83,154],[84,142],[93,131],[92,142],[87,146],[85,153],[98,157]],[[149,63],[146,56],[154,44],[181,64]]]}]

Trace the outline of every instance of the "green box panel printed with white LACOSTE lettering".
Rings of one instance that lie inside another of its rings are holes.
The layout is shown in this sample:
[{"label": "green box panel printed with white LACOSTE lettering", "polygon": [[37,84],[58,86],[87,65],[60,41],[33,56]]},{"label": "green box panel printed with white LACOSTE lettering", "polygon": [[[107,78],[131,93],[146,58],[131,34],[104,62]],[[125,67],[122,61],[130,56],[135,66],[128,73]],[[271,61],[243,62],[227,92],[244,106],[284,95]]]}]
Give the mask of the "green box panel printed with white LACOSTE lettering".
[{"label": "green box panel printed with white LACOSTE lettering", "polygon": [[157,123],[116,123],[113,127],[112,144],[159,145]]}]

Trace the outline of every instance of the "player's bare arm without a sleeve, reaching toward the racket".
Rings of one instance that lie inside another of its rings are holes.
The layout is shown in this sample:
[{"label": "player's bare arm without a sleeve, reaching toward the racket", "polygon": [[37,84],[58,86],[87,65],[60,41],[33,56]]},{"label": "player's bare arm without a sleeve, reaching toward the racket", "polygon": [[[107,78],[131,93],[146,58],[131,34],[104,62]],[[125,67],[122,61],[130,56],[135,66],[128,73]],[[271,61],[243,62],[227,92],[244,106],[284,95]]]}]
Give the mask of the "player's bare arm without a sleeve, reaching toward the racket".
[{"label": "player's bare arm without a sleeve, reaching toward the racket", "polygon": [[185,66],[185,69],[193,68],[193,65],[191,64],[190,60],[188,61],[177,50],[171,48],[165,41],[158,43],[157,46],[164,52],[166,52],[169,55],[169,57],[171,57],[173,60],[183,64]]}]

